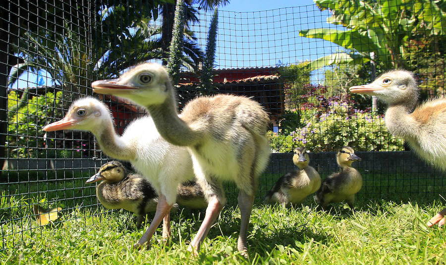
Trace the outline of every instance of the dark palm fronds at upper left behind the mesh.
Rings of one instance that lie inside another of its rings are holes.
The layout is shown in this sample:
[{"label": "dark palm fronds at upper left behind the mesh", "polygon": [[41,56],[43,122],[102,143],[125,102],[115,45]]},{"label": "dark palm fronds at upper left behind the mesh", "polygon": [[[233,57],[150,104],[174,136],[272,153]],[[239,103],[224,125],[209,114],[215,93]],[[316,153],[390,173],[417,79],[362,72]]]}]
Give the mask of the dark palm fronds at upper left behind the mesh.
[{"label": "dark palm fronds at upper left behind the mesh", "polygon": [[[98,6],[96,10],[102,9],[102,12],[91,21],[99,23],[91,27],[64,21],[55,27],[56,30],[40,28],[25,32],[18,45],[13,47],[14,52],[24,58],[24,63],[12,69],[8,84],[15,83],[25,71],[45,70],[56,84],[74,85],[71,91],[80,89],[85,93],[92,76],[113,78],[131,65],[162,59],[162,28],[155,26],[153,21],[158,18],[159,7],[170,2],[173,0]],[[85,29],[92,32],[86,34]],[[95,41],[90,43],[90,39],[85,38],[87,35],[93,36]],[[184,61],[187,67],[193,65],[196,68],[201,61],[201,51],[192,35],[182,40],[187,47]]]}]

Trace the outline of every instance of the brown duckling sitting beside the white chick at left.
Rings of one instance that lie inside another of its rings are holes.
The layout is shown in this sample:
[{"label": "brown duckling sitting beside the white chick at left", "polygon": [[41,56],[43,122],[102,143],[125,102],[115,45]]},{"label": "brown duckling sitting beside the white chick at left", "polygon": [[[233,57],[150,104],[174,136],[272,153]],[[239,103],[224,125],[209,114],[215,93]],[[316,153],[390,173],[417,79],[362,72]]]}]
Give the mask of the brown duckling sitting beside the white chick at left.
[{"label": "brown duckling sitting beside the white chick at left", "polygon": [[99,202],[107,209],[124,209],[137,215],[136,227],[144,216],[157,210],[158,194],[142,175],[132,174],[118,161],[104,164],[85,183],[103,180],[96,188]]}]

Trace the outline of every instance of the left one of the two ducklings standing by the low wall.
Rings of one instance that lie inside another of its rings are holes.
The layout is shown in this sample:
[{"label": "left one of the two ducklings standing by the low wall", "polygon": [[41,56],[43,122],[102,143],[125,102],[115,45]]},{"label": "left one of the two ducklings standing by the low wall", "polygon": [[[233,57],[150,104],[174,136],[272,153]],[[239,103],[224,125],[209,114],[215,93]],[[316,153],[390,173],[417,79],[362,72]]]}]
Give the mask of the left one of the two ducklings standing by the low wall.
[{"label": "left one of the two ducklings standing by the low wall", "polygon": [[265,196],[265,203],[279,202],[283,207],[301,203],[321,186],[319,173],[308,165],[310,158],[305,147],[294,149],[293,163],[299,170],[289,172],[274,184]]}]

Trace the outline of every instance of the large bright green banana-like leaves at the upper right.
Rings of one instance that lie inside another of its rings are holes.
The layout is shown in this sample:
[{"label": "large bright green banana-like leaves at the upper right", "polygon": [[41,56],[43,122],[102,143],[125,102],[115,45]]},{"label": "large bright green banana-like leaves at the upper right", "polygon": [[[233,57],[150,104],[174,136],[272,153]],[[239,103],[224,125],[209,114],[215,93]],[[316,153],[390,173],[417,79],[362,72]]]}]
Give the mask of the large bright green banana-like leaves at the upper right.
[{"label": "large bright green banana-like leaves at the upper right", "polygon": [[442,35],[446,14],[440,1],[432,0],[315,0],[321,10],[329,9],[333,28],[310,29],[300,36],[338,44],[346,52],[336,52],[311,62],[311,68],[326,65],[365,64],[375,61],[382,69],[407,68],[409,40],[415,32]]}]

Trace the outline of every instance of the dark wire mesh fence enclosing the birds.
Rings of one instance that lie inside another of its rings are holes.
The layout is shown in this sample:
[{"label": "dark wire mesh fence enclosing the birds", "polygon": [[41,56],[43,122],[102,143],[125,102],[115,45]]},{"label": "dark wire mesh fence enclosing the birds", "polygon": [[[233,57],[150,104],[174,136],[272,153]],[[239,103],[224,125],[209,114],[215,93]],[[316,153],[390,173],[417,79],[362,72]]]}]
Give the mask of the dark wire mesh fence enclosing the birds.
[{"label": "dark wire mesh fence enclosing the birds", "polygon": [[[312,151],[310,164],[324,177],[337,170],[335,151],[343,145],[363,159],[355,167],[364,196],[438,196],[445,187],[441,172],[388,133],[383,103],[348,88],[404,68],[414,71],[421,100],[443,95],[445,7],[440,1],[342,2],[339,8],[218,11],[211,87],[201,84],[213,14],[188,5],[179,106],[198,95],[230,93],[265,107],[273,154],[258,197],[293,169],[295,147]],[[29,0],[0,7],[0,248],[38,231],[36,206],[60,207],[63,221],[102,211],[95,186],[85,180],[112,158],[92,133],[42,128],[84,96],[106,103],[118,133],[145,115],[128,101],[93,94],[90,85],[140,62],[167,64],[173,11],[164,1]],[[235,194],[232,184],[227,190]]]}]

